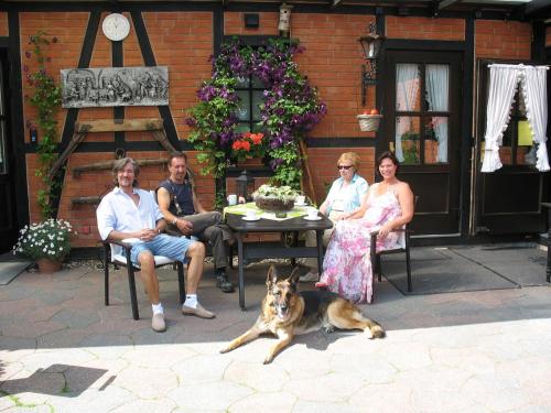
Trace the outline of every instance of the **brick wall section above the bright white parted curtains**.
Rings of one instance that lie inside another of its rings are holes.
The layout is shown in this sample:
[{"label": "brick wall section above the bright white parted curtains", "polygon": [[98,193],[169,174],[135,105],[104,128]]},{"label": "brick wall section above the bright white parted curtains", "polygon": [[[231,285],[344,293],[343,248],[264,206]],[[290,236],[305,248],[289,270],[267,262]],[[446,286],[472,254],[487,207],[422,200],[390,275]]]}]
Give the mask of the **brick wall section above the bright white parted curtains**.
[{"label": "brick wall section above the bright white parted curtains", "polygon": [[529,59],[531,36],[528,23],[477,20],[476,57]]}]

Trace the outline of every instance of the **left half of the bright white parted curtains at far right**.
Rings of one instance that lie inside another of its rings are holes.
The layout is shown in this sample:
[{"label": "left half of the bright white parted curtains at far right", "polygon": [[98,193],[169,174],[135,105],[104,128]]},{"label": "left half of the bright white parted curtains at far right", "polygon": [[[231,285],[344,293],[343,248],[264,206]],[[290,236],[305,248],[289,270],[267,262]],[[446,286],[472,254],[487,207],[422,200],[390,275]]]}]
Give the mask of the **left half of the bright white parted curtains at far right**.
[{"label": "left half of the bright white parted curtains at far right", "polygon": [[510,119],[512,98],[518,83],[519,68],[514,65],[489,67],[488,108],[486,111],[485,151],[482,172],[494,172],[503,164],[499,146]]}]

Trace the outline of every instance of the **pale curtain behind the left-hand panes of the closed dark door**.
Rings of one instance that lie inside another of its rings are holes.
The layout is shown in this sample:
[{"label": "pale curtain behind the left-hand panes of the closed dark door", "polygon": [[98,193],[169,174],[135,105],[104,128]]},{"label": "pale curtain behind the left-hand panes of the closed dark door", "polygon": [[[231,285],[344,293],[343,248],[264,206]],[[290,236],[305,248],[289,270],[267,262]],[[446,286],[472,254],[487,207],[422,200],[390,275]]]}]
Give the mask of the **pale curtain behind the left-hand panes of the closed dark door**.
[{"label": "pale curtain behind the left-hand panes of the closed dark door", "polygon": [[[396,109],[409,111],[414,109],[419,99],[419,66],[417,64],[396,65]],[[403,117],[397,118],[396,124],[396,157],[403,162],[402,134],[410,128]]]}]

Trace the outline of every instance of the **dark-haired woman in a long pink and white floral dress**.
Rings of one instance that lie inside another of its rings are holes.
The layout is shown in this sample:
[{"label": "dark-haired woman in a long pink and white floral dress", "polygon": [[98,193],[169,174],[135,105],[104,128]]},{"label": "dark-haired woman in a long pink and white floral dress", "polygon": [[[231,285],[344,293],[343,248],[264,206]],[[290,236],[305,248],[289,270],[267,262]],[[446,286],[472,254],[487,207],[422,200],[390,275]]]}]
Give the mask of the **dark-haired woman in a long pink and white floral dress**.
[{"label": "dark-haired woman in a long pink and white floral dress", "polygon": [[382,182],[371,185],[357,211],[336,224],[316,286],[326,286],[354,303],[371,302],[370,232],[379,230],[377,250],[393,249],[403,242],[403,232],[392,230],[413,218],[413,193],[396,177],[398,165],[391,152],[379,156],[377,166]]}]

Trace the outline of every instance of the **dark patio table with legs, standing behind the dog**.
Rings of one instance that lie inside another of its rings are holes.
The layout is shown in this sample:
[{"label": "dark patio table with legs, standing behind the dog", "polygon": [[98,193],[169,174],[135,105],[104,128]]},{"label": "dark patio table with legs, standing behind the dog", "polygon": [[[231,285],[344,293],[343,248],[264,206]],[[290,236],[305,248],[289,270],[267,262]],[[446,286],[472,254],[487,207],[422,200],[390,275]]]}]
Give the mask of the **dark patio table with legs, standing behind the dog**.
[{"label": "dark patio table with legs, standing behind the dog", "polygon": [[[295,209],[293,211],[296,213]],[[304,209],[303,215],[306,215]],[[294,214],[292,214],[294,215]],[[257,221],[247,221],[242,219],[239,213],[233,213],[231,207],[225,209],[226,224],[237,238],[238,253],[238,279],[239,279],[239,306],[245,311],[245,273],[244,265],[247,259],[264,258],[302,258],[317,257],[317,264],[323,265],[323,231],[333,227],[333,222],[326,216],[320,213],[320,220],[306,220],[304,216],[289,219],[274,220],[261,218]],[[300,232],[314,230],[316,232],[315,247],[285,247],[283,244],[273,244],[273,242],[244,242],[248,232]]]}]

